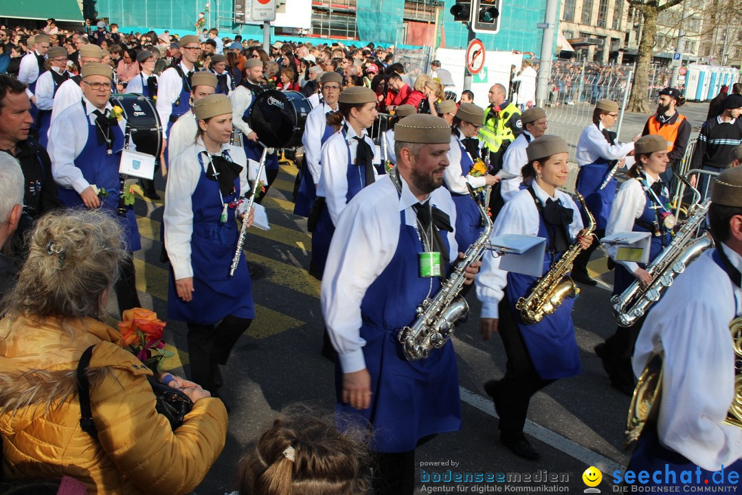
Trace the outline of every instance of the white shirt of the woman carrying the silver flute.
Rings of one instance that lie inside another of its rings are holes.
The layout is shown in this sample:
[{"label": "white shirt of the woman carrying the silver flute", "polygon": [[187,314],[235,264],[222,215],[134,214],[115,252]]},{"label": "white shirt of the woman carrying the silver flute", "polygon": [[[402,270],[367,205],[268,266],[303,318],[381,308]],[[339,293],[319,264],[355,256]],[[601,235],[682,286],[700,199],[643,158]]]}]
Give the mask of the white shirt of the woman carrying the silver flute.
[{"label": "white shirt of the woman carrying the silver flute", "polygon": [[[242,166],[240,171],[240,191],[249,191],[247,181],[247,158],[243,148],[228,144],[222,145],[222,150],[229,152],[234,163]],[[203,166],[200,165],[198,155],[206,151],[203,141],[199,140],[179,154],[170,156],[168,184],[165,187],[165,211],[162,213],[162,222],[165,226],[165,248],[173,266],[175,280],[193,277],[191,266],[191,235],[193,234],[193,196],[201,172],[209,167],[209,159],[201,155]],[[214,193],[216,194],[216,193]],[[215,200],[220,200],[219,197]],[[246,209],[246,203],[240,212]]]}]

